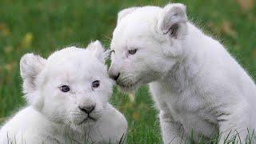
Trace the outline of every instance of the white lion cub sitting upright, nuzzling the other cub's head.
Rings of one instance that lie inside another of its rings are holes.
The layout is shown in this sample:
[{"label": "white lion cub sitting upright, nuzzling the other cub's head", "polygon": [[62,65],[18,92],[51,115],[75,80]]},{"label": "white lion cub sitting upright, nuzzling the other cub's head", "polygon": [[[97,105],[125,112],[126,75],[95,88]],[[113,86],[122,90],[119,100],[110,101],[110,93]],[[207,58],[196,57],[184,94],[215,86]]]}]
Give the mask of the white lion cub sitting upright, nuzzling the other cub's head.
[{"label": "white lion cub sitting upright, nuzzling the other cub's head", "polygon": [[150,83],[164,142],[185,142],[192,130],[196,141],[218,130],[220,143],[230,130],[243,141],[246,129],[256,128],[256,86],[246,71],[222,44],[187,21],[186,6],[129,12],[118,18],[113,33],[109,73],[120,74],[122,90]]}]

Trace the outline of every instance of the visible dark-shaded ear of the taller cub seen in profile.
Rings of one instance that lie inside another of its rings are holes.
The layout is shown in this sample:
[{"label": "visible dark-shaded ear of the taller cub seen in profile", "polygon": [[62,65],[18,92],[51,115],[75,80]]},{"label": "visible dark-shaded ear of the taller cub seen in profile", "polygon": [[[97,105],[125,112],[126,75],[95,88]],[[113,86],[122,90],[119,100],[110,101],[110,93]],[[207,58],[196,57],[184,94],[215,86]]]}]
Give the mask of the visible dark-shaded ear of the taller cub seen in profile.
[{"label": "visible dark-shaded ear of the taller cub seen in profile", "polygon": [[180,3],[166,5],[158,15],[158,30],[169,34],[171,38],[180,38],[186,34],[186,6]]}]

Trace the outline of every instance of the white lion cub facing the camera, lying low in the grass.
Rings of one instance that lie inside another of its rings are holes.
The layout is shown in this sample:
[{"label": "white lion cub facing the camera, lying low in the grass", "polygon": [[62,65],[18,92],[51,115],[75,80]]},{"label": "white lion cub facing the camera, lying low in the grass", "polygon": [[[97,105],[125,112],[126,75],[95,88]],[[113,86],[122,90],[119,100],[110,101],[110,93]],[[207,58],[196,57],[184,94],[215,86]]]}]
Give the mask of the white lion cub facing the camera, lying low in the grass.
[{"label": "white lion cub facing the camera, lying low in the grass", "polygon": [[25,54],[20,62],[29,106],[0,131],[0,143],[104,143],[123,141],[126,118],[108,103],[110,80],[100,42],[74,46],[44,59]]}]

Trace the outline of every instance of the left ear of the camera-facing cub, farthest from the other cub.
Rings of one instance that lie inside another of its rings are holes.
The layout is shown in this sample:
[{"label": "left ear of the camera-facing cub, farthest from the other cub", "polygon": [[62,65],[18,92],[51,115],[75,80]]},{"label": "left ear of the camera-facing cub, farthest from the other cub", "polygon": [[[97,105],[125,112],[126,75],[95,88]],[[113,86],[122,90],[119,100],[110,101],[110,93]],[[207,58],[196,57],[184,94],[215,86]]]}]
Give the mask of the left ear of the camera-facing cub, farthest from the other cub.
[{"label": "left ear of the camera-facing cub, farthest from the other cub", "polygon": [[36,78],[46,65],[46,59],[34,55],[25,54],[20,61],[21,76],[23,79],[23,93],[30,94],[36,90]]}]

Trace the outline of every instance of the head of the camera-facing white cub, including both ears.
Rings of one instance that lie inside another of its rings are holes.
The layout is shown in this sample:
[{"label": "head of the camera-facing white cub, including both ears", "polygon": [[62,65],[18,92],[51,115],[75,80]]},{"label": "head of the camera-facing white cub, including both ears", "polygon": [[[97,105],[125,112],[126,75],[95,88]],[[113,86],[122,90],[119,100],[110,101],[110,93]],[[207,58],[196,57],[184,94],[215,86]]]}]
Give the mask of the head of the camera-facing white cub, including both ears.
[{"label": "head of the camera-facing white cub, including both ears", "polygon": [[82,126],[101,116],[112,92],[100,42],[74,46],[45,59],[25,54],[20,62],[27,101],[50,121]]}]

